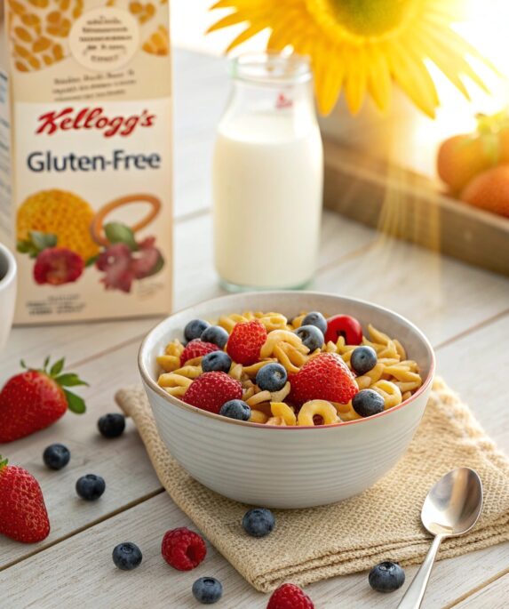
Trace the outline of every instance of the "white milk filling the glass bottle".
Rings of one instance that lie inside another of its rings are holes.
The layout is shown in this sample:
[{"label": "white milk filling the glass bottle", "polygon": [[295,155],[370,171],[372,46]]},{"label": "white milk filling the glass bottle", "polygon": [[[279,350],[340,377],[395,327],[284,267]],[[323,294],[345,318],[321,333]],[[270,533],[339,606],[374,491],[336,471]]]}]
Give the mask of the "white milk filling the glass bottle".
[{"label": "white milk filling the glass bottle", "polygon": [[314,120],[268,111],[219,125],[214,236],[216,267],[224,282],[291,288],[312,278],[322,181],[322,140]]}]

